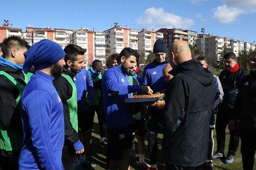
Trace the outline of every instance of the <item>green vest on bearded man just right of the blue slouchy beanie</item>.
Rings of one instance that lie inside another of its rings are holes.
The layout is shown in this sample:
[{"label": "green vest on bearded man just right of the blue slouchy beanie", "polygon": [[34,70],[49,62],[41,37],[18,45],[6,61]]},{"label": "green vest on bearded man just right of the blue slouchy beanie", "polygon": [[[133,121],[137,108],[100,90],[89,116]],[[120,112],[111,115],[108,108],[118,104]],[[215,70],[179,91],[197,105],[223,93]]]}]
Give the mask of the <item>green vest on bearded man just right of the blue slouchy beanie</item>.
[{"label": "green vest on bearded man just right of the blue slouchy beanie", "polygon": [[62,74],[64,78],[68,80],[68,82],[72,86],[72,96],[70,99],[67,100],[68,102],[68,110],[70,115],[70,122],[72,124],[72,127],[78,132],[78,119],[77,119],[77,92],[76,92],[76,84],[72,80],[72,78],[66,74]]}]

